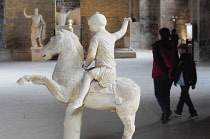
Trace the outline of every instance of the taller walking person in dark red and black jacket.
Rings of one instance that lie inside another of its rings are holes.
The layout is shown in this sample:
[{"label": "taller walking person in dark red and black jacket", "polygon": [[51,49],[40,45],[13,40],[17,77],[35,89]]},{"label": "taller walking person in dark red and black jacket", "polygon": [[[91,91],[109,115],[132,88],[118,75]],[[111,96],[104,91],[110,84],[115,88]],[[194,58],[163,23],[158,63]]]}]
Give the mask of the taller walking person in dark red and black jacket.
[{"label": "taller walking person in dark red and black jacket", "polygon": [[162,28],[159,31],[161,40],[152,44],[155,97],[162,110],[161,120],[165,124],[172,114],[170,110],[170,90],[178,61],[177,47],[169,40],[170,30]]}]

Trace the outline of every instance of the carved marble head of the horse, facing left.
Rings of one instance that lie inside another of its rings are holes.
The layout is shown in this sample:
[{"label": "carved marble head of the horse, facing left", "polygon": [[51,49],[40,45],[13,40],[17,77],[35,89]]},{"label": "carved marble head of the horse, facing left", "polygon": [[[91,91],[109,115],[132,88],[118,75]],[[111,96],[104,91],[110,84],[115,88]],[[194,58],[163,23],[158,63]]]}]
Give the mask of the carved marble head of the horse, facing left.
[{"label": "carved marble head of the horse, facing left", "polygon": [[57,31],[57,35],[51,37],[50,41],[44,46],[42,51],[44,60],[49,60],[52,56],[60,54],[63,40],[64,34],[61,31]]}]

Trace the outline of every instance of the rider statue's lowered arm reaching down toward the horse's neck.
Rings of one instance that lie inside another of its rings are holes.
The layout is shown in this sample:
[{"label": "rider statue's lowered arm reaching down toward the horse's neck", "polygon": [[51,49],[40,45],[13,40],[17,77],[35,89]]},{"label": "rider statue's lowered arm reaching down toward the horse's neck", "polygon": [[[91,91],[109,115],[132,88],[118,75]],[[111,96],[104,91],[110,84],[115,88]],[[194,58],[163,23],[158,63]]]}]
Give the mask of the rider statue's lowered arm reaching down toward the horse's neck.
[{"label": "rider statue's lowered arm reaching down toward the horse's neck", "polygon": [[90,46],[88,48],[87,58],[84,64],[85,67],[88,67],[92,63],[92,61],[95,59],[97,48],[98,48],[98,41],[92,38],[90,41]]}]

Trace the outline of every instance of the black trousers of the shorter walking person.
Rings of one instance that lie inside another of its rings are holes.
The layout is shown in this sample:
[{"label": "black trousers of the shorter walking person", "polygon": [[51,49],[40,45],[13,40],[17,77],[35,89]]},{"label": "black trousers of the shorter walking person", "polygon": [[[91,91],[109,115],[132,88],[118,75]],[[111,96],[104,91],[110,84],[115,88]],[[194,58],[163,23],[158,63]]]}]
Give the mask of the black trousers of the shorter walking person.
[{"label": "black trousers of the shorter walking person", "polygon": [[177,113],[182,114],[184,104],[186,103],[186,105],[189,108],[189,113],[191,115],[197,115],[197,111],[195,110],[189,95],[190,86],[180,86],[180,87],[181,87],[181,96],[176,107]]}]

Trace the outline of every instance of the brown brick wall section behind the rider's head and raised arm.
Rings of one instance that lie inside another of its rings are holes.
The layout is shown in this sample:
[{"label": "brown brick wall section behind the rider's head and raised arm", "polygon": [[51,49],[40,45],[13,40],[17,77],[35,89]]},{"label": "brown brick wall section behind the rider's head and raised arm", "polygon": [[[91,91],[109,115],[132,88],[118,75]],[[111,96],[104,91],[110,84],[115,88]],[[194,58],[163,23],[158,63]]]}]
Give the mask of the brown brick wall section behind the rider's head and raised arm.
[{"label": "brown brick wall section behind the rider's head and raised arm", "polygon": [[[129,0],[80,0],[82,22],[82,45],[88,48],[93,34],[89,31],[87,21],[90,16],[99,12],[106,16],[106,30],[114,33],[121,28],[124,17],[129,16]],[[129,28],[126,36],[129,36]],[[116,47],[124,47],[124,39],[116,42]]]}]

